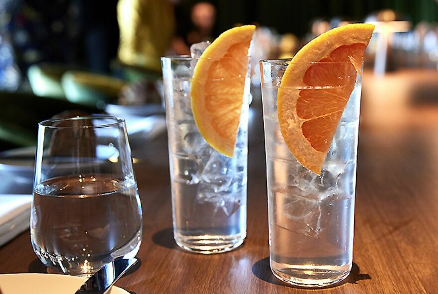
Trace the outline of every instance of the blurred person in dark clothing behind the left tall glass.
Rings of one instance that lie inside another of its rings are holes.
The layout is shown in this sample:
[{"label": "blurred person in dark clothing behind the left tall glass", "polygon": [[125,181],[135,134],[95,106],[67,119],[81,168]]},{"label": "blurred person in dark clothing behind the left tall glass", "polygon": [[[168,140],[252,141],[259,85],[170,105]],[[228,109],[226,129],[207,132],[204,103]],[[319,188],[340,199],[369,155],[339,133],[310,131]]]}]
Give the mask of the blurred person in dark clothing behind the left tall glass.
[{"label": "blurred person in dark clothing behind the left tall glass", "polygon": [[190,18],[194,29],[187,35],[188,45],[214,40],[213,27],[216,22],[216,8],[211,3],[199,2],[193,5]]}]

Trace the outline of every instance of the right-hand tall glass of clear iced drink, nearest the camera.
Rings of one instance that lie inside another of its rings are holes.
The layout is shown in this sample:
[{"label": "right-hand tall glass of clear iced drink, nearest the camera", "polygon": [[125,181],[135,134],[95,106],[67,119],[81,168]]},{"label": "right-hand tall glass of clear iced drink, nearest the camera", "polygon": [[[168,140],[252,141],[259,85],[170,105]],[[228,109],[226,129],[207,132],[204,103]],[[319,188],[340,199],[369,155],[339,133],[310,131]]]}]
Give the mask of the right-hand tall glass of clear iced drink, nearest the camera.
[{"label": "right-hand tall glass of clear iced drink, nearest the camera", "polygon": [[260,64],[271,270],[290,284],[308,287],[334,284],[348,276],[352,266],[361,77],[340,74],[339,86],[296,84],[282,89],[292,95],[308,90],[324,95],[329,88],[345,85],[345,79],[355,81],[321,175],[317,175],[295,159],[280,131],[277,93],[290,62],[265,60]]}]

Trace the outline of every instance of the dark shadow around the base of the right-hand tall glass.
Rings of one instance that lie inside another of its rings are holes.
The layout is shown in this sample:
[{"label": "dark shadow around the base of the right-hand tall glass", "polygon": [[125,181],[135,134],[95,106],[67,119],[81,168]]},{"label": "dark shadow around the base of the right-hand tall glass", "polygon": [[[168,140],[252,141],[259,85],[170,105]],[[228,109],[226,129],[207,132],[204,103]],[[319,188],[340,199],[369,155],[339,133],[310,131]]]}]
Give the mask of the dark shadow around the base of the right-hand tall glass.
[{"label": "dark shadow around the base of the right-hand tall glass", "polygon": [[[289,285],[289,284],[277,279],[274,276],[274,274],[272,274],[272,272],[271,272],[271,268],[269,266],[269,257],[266,257],[266,258],[263,258],[263,259],[257,261],[252,266],[252,273],[257,278],[259,278],[263,281],[266,281],[268,283],[271,283],[271,284],[286,286],[286,287],[290,287],[290,288],[309,289],[309,288],[304,288],[304,287],[299,287],[299,286],[292,286],[292,285]],[[333,284],[333,285],[330,285],[327,287],[317,288],[315,290],[324,289],[324,288],[333,288],[333,287],[340,286],[340,285],[343,285],[346,283],[356,284],[360,280],[370,280],[370,279],[371,279],[370,275],[361,274],[359,266],[357,264],[353,263],[353,266],[351,268],[351,273],[350,273],[350,275],[348,275],[348,277],[346,279],[340,281],[339,283],[336,283],[336,284]]]}]

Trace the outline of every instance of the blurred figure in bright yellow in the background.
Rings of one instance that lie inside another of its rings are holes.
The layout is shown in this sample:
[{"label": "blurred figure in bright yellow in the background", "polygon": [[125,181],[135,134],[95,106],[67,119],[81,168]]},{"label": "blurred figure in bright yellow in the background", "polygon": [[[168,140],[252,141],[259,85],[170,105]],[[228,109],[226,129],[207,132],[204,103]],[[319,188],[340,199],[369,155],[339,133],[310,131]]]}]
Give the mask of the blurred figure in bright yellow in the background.
[{"label": "blurred figure in bright yellow in the background", "polygon": [[119,0],[118,59],[121,63],[161,73],[161,56],[171,46],[175,32],[170,0]]}]

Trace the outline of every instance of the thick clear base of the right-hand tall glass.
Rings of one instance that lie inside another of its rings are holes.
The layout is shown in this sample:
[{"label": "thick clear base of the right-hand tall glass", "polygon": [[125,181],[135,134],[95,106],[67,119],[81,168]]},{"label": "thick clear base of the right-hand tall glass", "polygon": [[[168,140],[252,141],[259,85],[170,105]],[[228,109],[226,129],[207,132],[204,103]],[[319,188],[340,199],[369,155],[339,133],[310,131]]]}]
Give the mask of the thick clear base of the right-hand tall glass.
[{"label": "thick clear base of the right-hand tall glass", "polygon": [[348,277],[351,271],[351,265],[345,267],[347,268],[345,270],[333,270],[331,267],[310,266],[275,269],[271,265],[271,271],[275,277],[288,284],[305,288],[321,288],[339,283]]}]

